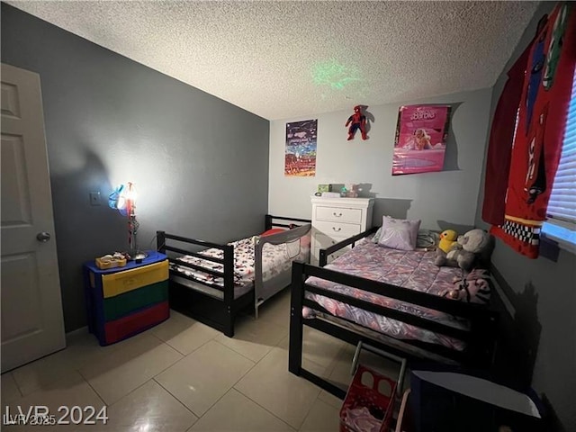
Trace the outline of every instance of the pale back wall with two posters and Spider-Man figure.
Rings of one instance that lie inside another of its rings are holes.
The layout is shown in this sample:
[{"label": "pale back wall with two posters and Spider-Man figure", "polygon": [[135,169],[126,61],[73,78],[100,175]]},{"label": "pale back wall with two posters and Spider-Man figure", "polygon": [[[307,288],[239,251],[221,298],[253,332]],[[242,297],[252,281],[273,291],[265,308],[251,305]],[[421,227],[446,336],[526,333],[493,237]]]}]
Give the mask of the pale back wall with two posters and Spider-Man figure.
[{"label": "pale back wall with two posters and Spider-Man figure", "polygon": [[[361,103],[361,101],[358,101]],[[329,112],[271,121],[268,211],[276,215],[311,217],[310,196],[317,184],[372,184],[376,198],[374,224],[380,216],[421,219],[422,228],[473,226],[488,132],[491,88],[449,94],[410,103],[453,105],[445,170],[392,176],[392,151],[398,108],[402,103],[370,106],[374,116],[369,139],[360,133],[347,141],[347,112]],[[315,177],[284,176],[286,122],[318,119]],[[446,224],[446,222],[448,222]],[[457,228],[457,227],[456,227]]]}]

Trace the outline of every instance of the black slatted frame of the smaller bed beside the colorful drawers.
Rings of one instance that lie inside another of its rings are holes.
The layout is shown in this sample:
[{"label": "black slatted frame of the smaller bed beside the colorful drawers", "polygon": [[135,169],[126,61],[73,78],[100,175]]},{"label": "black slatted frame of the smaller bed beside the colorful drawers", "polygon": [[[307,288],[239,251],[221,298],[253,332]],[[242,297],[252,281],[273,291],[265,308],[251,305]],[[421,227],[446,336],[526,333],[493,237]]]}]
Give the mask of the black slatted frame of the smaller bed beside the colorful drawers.
[{"label": "black slatted frame of the smaller bed beside the colorful drawers", "polygon": [[[310,222],[310,220],[288,218],[283,216],[272,216],[266,214],[265,229],[291,228],[293,224],[276,222],[275,220],[285,220],[290,222]],[[218,290],[222,293],[222,297],[212,296],[208,293],[193,290],[183,284],[169,281],[169,301],[170,308],[175,311],[184,313],[194,320],[198,320],[213,329],[220,330],[229,338],[234,337],[234,322],[238,317],[238,313],[243,311],[248,306],[254,304],[254,289],[244,293],[238,298],[234,298],[234,247],[229,245],[222,245],[210,241],[201,240],[198,238],[185,238],[174,234],[168,234],[165,231],[157,231],[157,250],[163,254],[167,252],[174,252],[179,255],[188,255],[192,257],[201,258],[203,260],[218,263],[224,266],[224,271],[211,270],[202,266],[195,266],[193,264],[186,264],[186,266],[193,269],[209,273],[211,275],[223,278],[223,286],[215,284],[207,284],[194,279],[192,276],[184,275],[175,270],[170,269],[170,275],[175,275],[187,279],[194,284],[203,284],[211,289]],[[166,244],[168,240],[174,242],[184,243],[183,247],[175,247]],[[197,252],[187,250],[185,247],[202,247],[202,248],[217,248],[222,250],[223,257],[207,257]],[[168,256],[170,263],[175,263],[175,257]]]}]

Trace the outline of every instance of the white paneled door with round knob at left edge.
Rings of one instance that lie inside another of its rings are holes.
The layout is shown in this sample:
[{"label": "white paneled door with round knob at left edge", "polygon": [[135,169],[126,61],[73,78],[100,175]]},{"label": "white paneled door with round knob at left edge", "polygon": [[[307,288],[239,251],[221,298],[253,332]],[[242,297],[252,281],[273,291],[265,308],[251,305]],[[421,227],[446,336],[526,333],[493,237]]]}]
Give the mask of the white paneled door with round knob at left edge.
[{"label": "white paneled door with round knob at left edge", "polygon": [[2,372],[66,347],[40,76],[2,65]]}]

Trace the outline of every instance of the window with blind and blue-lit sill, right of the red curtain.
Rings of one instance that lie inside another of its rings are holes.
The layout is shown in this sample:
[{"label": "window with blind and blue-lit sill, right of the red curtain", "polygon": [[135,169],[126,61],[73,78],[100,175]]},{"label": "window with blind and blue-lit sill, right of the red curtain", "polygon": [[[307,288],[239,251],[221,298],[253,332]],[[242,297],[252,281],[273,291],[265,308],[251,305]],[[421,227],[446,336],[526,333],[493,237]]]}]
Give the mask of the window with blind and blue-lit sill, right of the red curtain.
[{"label": "window with blind and blue-lit sill, right of the red curtain", "polygon": [[564,133],[562,157],[548,202],[548,220],[543,226],[547,238],[576,253],[576,73]]}]

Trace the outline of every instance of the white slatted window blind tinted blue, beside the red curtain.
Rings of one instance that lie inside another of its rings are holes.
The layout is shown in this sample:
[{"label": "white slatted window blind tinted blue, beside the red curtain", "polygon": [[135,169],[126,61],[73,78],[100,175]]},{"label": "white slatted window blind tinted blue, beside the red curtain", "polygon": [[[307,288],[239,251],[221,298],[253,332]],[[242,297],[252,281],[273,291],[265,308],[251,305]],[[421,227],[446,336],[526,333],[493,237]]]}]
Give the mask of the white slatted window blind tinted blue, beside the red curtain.
[{"label": "white slatted window blind tinted blue, beside the red curtain", "polygon": [[572,98],[562,148],[562,157],[554,177],[554,187],[548,202],[549,221],[558,221],[576,229],[576,74],[572,81]]}]

